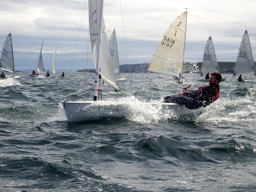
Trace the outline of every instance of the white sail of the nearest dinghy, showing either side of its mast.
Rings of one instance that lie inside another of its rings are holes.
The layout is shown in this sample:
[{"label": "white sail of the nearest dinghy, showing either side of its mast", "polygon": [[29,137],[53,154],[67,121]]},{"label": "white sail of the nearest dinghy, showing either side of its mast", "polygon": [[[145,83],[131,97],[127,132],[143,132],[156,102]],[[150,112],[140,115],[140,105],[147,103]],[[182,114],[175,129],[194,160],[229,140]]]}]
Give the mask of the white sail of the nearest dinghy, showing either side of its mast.
[{"label": "white sail of the nearest dinghy, showing either side of its mast", "polygon": [[[98,29],[99,29],[99,22],[97,22],[100,17],[100,0],[90,0],[89,1],[89,27],[90,27],[90,38],[91,38],[91,45],[92,45],[92,56],[94,60],[94,64],[96,67],[97,63],[97,46],[98,46]],[[113,70],[112,61],[109,54],[109,47],[108,47],[108,38],[106,34],[106,27],[105,22],[103,19],[102,22],[102,37],[101,37],[101,53],[100,53],[100,75],[104,77],[109,86],[112,88],[119,90],[116,86],[115,74]],[[102,78],[103,80],[103,78]],[[112,82],[112,83],[110,83]]]}]

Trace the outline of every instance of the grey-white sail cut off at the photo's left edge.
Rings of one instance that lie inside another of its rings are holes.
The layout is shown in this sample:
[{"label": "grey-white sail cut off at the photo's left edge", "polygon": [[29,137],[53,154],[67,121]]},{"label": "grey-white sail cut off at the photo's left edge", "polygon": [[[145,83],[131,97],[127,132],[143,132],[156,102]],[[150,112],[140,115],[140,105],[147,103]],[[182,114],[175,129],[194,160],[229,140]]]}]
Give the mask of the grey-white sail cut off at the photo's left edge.
[{"label": "grey-white sail cut off at the photo's left edge", "polygon": [[3,52],[0,60],[0,69],[11,72],[11,73],[14,72],[11,33],[9,33],[9,35],[6,37],[6,40],[4,42]]}]

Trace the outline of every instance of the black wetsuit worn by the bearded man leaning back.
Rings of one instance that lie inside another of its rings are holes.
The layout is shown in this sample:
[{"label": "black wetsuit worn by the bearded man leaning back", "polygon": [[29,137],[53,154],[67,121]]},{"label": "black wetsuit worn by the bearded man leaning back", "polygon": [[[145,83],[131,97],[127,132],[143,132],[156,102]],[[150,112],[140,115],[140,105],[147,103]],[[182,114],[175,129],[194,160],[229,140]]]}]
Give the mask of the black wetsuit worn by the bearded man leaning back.
[{"label": "black wetsuit worn by the bearded man leaning back", "polygon": [[[219,85],[213,85],[220,91]],[[185,105],[189,109],[197,109],[202,106],[206,107],[212,103],[212,100],[216,98],[216,89],[213,87],[205,87],[198,90],[192,90],[189,92],[183,92],[182,96],[169,96],[164,98],[164,103],[178,103],[180,105]],[[201,90],[200,90],[201,89]]]}]

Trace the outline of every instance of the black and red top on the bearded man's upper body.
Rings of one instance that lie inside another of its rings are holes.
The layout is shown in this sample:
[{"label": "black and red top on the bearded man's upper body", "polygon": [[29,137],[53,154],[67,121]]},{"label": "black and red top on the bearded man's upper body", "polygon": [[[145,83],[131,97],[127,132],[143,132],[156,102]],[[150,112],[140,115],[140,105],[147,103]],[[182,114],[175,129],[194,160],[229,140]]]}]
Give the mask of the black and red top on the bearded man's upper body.
[{"label": "black and red top on the bearded man's upper body", "polygon": [[206,85],[198,90],[183,92],[183,96],[189,97],[197,104],[205,107],[220,97],[219,91],[219,85]]}]

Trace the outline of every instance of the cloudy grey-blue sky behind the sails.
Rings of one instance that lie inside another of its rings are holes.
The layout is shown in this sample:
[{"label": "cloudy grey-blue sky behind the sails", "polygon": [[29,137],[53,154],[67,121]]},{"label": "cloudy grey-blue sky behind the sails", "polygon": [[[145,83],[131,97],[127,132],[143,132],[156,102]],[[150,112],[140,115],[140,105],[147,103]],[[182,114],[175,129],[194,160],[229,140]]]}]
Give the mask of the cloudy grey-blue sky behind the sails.
[{"label": "cloudy grey-blue sky behind the sails", "polygon": [[[105,0],[107,36],[116,29],[120,65],[150,63],[165,31],[185,8],[184,61],[202,62],[210,34],[217,61],[236,61],[246,29],[256,60],[255,0],[121,0],[121,5],[120,0]],[[95,68],[88,44],[88,17],[86,0],[0,0],[0,51],[11,31],[15,70],[36,68],[43,39],[45,69],[52,66],[57,43],[56,71]]]}]

